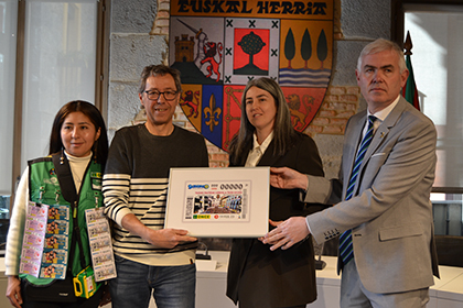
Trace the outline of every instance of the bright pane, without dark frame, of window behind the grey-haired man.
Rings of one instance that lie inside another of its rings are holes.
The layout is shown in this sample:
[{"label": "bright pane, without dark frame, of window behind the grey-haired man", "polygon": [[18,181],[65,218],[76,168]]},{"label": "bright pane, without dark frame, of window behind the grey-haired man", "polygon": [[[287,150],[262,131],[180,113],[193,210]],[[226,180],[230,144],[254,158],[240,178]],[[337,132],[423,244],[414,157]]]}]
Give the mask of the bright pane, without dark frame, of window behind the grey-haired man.
[{"label": "bright pane, without dark frame, of window behind the grey-haired man", "polygon": [[434,187],[463,187],[463,7],[462,10],[406,12],[421,111],[438,130]]}]

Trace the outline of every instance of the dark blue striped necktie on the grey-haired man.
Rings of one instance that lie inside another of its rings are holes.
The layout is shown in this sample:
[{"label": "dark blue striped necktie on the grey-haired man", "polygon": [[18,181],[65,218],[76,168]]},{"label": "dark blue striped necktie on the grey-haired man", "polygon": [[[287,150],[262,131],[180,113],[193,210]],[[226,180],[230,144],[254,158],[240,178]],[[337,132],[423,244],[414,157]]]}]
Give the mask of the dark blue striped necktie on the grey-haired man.
[{"label": "dark blue striped necktie on the grey-haired man", "polygon": [[[367,152],[368,146],[372,143],[373,123],[375,122],[375,120],[376,120],[375,116],[368,117],[368,129],[364,139],[360,142],[357,156],[355,157],[354,168],[352,169],[351,179],[347,186],[346,200],[351,199],[354,195],[354,187],[355,187],[355,183],[357,182],[358,169],[360,168],[362,161],[365,157],[365,153]],[[344,265],[346,265],[354,257],[354,251],[352,248],[352,230],[347,230],[343,234],[341,234],[340,254],[341,254],[341,258],[343,260]]]}]

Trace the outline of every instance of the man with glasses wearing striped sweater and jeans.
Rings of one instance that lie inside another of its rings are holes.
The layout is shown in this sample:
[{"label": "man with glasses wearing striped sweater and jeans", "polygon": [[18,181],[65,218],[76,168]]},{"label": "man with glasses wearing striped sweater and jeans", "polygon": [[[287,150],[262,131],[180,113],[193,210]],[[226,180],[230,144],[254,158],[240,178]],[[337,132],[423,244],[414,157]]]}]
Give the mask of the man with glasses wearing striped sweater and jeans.
[{"label": "man with glasses wearing striped sweater and jeans", "polygon": [[147,122],[122,128],[112,140],[103,182],[105,212],[114,223],[117,278],[112,307],[191,308],[195,301],[197,240],[163,229],[171,167],[207,167],[204,138],[173,124],[180,73],[147,66],[139,98]]}]

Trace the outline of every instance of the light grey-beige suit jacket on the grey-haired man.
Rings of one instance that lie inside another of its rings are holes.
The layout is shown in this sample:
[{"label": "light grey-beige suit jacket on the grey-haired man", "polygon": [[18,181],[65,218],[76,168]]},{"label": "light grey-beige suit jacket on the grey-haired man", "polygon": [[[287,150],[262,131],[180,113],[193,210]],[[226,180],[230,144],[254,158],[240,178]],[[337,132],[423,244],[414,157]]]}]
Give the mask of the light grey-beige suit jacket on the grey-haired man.
[{"label": "light grey-beige suit jacket on the grey-haired man", "polygon": [[[344,200],[366,117],[365,110],[347,123],[340,179],[309,176],[305,201]],[[431,120],[400,98],[373,136],[354,197],[306,218],[317,243],[352,229],[358,275],[369,292],[426,288],[439,275],[429,200],[435,142]]]}]

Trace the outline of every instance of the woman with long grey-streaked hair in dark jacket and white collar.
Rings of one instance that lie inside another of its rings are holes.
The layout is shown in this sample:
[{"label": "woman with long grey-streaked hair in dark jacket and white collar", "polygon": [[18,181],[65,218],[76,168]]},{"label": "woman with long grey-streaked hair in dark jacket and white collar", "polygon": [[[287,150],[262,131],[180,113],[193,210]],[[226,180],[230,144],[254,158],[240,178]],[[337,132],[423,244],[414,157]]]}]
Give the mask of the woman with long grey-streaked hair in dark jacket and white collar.
[{"label": "woman with long grey-streaked hair in dark jacket and white collar", "polygon": [[[270,78],[249,81],[241,97],[241,123],[229,146],[230,166],[291,166],[323,176],[313,140],[297,132],[280,86]],[[270,187],[269,217],[280,221],[321,209],[299,200],[300,190]],[[316,299],[315,264],[309,237],[291,250],[270,251],[258,239],[234,239],[227,296],[240,308],[305,307]]]}]

